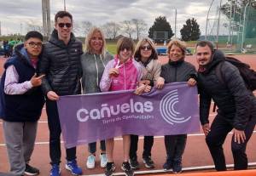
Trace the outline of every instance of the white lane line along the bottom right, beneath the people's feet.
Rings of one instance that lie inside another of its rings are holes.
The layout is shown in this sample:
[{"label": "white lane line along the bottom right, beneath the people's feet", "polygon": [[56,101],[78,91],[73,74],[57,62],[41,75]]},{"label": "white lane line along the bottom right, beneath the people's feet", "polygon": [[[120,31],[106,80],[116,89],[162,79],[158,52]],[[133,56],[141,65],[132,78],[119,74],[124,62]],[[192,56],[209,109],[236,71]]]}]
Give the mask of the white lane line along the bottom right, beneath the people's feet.
[{"label": "white lane line along the bottom right, beneath the people's feet", "polygon": [[[234,167],[234,164],[227,164],[228,168]],[[256,166],[256,162],[249,162],[248,166]],[[207,169],[214,169],[214,165],[207,165],[207,166],[200,166],[200,167],[183,167],[183,171],[194,171],[194,170],[207,170]],[[135,174],[147,174],[147,173],[170,173],[171,170],[165,171],[164,169],[158,169],[158,170],[146,170],[146,171],[135,171]],[[92,174],[92,175],[86,175],[86,176],[102,176],[104,174]],[[124,173],[113,173],[113,175],[124,175]],[[82,175],[85,176],[85,175]]]}]

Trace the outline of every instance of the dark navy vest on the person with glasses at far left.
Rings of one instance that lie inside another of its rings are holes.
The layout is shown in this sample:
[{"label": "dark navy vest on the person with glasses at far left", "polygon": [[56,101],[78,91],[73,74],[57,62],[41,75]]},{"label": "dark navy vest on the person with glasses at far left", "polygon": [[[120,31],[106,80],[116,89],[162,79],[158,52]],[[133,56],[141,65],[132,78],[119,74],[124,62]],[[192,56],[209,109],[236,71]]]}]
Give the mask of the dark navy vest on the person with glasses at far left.
[{"label": "dark navy vest on the person with glasses at far left", "polygon": [[[22,55],[9,59],[4,68],[14,65],[19,75],[19,82],[29,81],[36,70]],[[3,73],[0,85],[0,117],[8,122],[36,122],[41,116],[44,106],[44,94],[41,87],[28,90],[25,94],[9,95],[4,93],[6,71]]]}]

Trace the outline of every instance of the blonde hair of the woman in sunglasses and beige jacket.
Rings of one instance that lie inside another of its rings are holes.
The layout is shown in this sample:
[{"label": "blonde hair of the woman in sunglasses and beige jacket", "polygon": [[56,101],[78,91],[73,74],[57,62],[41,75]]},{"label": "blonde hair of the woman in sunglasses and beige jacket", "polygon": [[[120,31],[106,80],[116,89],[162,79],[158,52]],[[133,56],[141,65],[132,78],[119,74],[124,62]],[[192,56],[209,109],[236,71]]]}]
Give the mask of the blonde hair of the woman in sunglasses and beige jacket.
[{"label": "blonde hair of the woman in sunglasses and beige jacket", "polygon": [[134,58],[137,60],[137,61],[140,61],[141,58],[142,58],[142,55],[141,55],[141,47],[143,46],[144,43],[148,43],[150,45],[150,47],[152,48],[152,54],[150,55],[150,59],[152,60],[157,60],[158,59],[158,55],[157,55],[157,52],[156,52],[156,49],[154,47],[154,43],[153,41],[148,38],[148,37],[145,37],[141,40],[139,40],[139,42],[137,43],[136,45],[136,48],[135,48],[135,54],[134,54]]}]

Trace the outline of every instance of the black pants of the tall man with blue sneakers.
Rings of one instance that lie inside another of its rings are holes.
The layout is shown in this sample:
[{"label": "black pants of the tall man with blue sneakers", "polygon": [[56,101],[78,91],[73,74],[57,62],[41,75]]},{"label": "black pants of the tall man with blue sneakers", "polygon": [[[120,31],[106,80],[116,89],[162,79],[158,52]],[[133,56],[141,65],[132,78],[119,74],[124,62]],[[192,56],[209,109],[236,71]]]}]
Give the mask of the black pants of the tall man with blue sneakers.
[{"label": "black pants of the tall man with blue sneakers", "polygon": [[[46,100],[46,113],[49,127],[49,156],[51,164],[61,162],[61,123],[56,101]],[[66,149],[67,161],[76,159],[76,147]]]}]

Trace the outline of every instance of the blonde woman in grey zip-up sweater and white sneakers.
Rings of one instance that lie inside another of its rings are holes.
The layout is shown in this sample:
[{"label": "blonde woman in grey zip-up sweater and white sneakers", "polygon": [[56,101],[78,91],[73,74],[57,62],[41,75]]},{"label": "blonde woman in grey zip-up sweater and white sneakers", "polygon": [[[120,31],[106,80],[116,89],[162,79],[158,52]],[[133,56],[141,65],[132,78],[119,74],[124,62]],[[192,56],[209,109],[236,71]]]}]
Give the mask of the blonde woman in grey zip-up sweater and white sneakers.
[{"label": "blonde woman in grey zip-up sweater and white sneakers", "polygon": [[[106,40],[103,32],[99,28],[92,28],[85,40],[85,52],[81,58],[83,69],[82,87],[83,94],[99,93],[99,87],[102,74],[109,60],[113,60],[113,56],[106,52]],[[105,140],[101,140],[101,167],[106,167],[107,156]],[[86,167],[94,168],[96,162],[96,142],[88,145],[89,156],[87,158]]]}]

